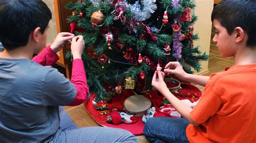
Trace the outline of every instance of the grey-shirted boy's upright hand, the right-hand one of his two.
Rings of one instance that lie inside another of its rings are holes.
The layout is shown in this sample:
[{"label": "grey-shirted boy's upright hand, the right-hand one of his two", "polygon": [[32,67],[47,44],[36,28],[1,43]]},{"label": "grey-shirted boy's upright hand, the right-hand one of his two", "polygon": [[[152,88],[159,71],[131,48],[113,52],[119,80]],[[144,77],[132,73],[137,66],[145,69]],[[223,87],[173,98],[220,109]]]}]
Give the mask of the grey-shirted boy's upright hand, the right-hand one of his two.
[{"label": "grey-shirted boy's upright hand, the right-hand one of his two", "polygon": [[82,53],[84,51],[84,37],[78,35],[72,39],[71,42],[71,52],[73,59],[82,59]]}]

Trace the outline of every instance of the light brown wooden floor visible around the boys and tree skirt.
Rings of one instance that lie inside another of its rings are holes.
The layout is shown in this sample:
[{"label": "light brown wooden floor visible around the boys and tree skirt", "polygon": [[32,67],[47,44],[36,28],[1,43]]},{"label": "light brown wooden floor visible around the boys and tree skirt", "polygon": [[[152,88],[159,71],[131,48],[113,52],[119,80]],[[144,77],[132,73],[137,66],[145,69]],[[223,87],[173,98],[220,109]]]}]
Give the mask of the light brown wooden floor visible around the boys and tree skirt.
[{"label": "light brown wooden floor visible around the boys and tree skirt", "polygon": [[[214,30],[212,30],[212,38],[214,35]],[[233,65],[233,58],[221,58],[219,55],[219,51],[215,46],[214,42],[211,42],[210,47],[210,60],[209,60],[209,73],[205,75],[211,75],[217,71],[223,70],[225,67],[230,67]],[[198,86],[201,90],[203,87]],[[87,126],[99,126],[96,121],[86,112],[83,105],[75,106],[75,107],[64,107],[66,111],[68,111],[69,115],[71,116],[72,120],[79,127],[87,127]],[[137,136],[138,142],[149,142],[146,140],[144,135]]]}]

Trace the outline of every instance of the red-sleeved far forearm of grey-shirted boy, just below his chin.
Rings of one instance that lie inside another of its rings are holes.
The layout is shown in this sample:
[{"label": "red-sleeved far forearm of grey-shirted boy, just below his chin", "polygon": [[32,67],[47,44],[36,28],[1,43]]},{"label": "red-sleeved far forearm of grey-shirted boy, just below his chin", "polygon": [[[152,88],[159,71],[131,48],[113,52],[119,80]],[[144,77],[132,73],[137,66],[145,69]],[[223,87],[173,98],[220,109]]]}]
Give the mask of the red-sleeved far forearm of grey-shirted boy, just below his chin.
[{"label": "red-sleeved far forearm of grey-shirted boy, just below his chin", "polygon": [[50,45],[43,52],[35,56],[32,61],[39,63],[42,66],[52,66],[59,60],[58,55],[53,52]]}]

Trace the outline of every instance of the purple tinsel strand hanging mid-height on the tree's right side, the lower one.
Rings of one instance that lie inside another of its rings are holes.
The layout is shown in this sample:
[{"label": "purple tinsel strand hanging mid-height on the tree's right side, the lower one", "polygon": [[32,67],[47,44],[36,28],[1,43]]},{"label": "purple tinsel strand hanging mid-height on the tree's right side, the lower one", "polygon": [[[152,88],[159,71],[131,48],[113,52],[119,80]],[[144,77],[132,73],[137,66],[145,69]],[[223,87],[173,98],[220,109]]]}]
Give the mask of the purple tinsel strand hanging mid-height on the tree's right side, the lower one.
[{"label": "purple tinsel strand hanging mid-height on the tree's right side, the lower one", "polygon": [[181,31],[174,32],[173,36],[173,56],[179,60],[181,59],[181,50],[182,50],[182,45],[180,43],[182,39],[182,34]]}]

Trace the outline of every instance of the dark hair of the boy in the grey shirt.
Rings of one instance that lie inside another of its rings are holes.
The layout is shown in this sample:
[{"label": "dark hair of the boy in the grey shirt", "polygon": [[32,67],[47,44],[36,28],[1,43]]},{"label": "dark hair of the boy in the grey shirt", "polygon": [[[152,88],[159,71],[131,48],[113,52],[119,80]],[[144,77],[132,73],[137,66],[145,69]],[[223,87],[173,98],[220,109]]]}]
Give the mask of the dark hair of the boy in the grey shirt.
[{"label": "dark hair of the boy in the grey shirt", "polygon": [[30,33],[41,27],[43,34],[51,20],[51,11],[40,0],[0,1],[0,41],[5,49],[28,44]]}]

